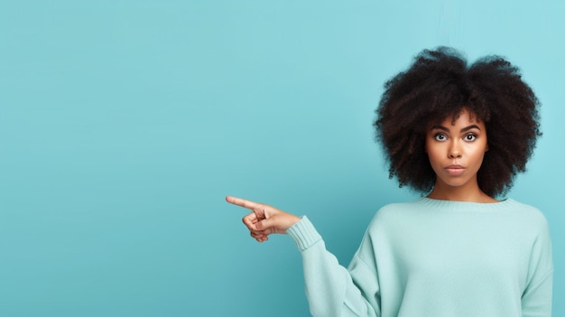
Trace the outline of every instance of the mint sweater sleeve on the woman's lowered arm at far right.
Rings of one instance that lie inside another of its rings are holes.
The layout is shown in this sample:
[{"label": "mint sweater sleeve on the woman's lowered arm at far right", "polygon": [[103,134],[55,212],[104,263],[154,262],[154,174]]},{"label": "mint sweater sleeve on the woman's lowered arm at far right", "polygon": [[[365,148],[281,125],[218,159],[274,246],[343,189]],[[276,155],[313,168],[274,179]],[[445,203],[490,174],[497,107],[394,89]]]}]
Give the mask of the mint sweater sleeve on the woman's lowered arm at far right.
[{"label": "mint sweater sleeve on the woman's lowered arm at far right", "polygon": [[547,221],[533,241],[528,283],[522,295],[523,317],[550,317],[553,282],[551,238]]}]

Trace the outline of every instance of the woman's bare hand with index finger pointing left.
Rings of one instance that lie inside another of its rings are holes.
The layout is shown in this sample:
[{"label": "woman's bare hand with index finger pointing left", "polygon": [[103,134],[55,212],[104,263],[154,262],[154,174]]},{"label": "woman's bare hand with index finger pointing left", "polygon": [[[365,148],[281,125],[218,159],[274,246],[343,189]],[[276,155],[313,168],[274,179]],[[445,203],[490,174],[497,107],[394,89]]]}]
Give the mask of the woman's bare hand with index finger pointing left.
[{"label": "woman's bare hand with index finger pointing left", "polygon": [[232,196],[227,196],[226,200],[234,205],[253,210],[243,218],[243,221],[251,232],[251,237],[255,238],[257,242],[268,240],[268,236],[273,233],[286,233],[286,229],[291,228],[301,219],[288,212],[255,201]]}]

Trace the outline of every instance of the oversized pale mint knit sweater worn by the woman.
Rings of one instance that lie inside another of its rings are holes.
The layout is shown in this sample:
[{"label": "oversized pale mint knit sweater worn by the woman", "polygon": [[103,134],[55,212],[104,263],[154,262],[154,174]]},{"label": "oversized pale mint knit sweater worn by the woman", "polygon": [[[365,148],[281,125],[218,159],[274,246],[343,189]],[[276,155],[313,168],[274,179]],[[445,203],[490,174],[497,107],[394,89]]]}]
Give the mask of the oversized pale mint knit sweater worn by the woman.
[{"label": "oversized pale mint knit sweater worn by the woman", "polygon": [[515,200],[387,205],[348,268],[307,217],[287,232],[301,251],[314,316],[551,316],[547,221]]}]

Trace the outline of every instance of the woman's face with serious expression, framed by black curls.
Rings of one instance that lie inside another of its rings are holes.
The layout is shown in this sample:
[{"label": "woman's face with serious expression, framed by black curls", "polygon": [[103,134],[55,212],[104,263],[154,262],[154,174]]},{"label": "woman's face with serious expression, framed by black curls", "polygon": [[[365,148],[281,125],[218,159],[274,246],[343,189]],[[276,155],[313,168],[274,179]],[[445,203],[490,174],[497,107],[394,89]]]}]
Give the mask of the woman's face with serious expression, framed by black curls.
[{"label": "woman's face with serious expression, framed by black curls", "polygon": [[426,152],[436,173],[436,190],[477,190],[477,172],[483,163],[485,124],[463,109],[455,122],[447,117],[431,126],[426,135]]}]

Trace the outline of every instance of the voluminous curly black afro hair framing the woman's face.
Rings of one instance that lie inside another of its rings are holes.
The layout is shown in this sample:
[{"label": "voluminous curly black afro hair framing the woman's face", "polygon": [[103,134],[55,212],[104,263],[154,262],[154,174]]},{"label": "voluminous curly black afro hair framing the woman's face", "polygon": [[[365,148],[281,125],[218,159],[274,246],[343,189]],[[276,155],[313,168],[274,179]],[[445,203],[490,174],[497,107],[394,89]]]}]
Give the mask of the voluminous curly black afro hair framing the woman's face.
[{"label": "voluminous curly black afro hair framing the woman's face", "polygon": [[512,188],[542,135],[540,103],[520,70],[493,55],[468,66],[456,50],[421,51],[412,65],[384,84],[376,109],[376,140],[384,148],[389,177],[399,186],[428,193],[436,174],[425,153],[426,130],[463,109],[486,126],[488,152],[477,172],[479,188],[491,197]]}]

